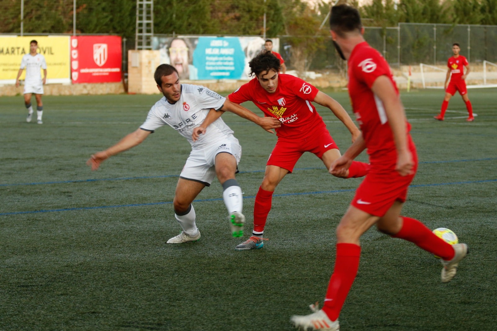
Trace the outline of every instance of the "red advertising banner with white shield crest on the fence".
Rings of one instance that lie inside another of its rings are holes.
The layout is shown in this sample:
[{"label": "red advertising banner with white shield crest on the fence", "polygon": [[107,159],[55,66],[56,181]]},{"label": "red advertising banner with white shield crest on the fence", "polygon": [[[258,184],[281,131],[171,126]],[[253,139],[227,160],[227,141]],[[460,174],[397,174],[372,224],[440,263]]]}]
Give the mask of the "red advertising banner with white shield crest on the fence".
[{"label": "red advertising banner with white shield crest on the fence", "polygon": [[71,37],[73,84],[121,82],[121,66],[121,37]]}]

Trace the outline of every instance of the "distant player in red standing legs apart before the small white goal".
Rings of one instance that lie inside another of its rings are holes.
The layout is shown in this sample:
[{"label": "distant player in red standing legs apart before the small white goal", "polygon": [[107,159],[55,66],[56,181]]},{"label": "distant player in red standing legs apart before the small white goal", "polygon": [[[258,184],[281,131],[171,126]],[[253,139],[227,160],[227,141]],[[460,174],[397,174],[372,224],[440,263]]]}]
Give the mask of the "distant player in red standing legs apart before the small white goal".
[{"label": "distant player in red standing legs apart before the small white goal", "polygon": [[[464,102],[466,103],[466,109],[468,109],[469,114],[466,121],[473,122],[475,120],[475,117],[473,116],[473,106],[469,100],[468,89],[466,87],[466,77],[468,77],[471,69],[469,67],[468,60],[464,56],[459,55],[460,51],[461,48],[458,43],[452,44],[452,53],[454,53],[454,56],[450,57],[447,61],[447,67],[449,67],[449,69],[447,70],[447,77],[445,79],[445,98],[442,102],[440,114],[433,116],[434,119],[439,121],[443,121],[445,111],[449,105],[449,100],[456,93],[456,91],[459,91],[459,94],[461,94]],[[466,67],[466,73],[464,73],[464,67]]]}]

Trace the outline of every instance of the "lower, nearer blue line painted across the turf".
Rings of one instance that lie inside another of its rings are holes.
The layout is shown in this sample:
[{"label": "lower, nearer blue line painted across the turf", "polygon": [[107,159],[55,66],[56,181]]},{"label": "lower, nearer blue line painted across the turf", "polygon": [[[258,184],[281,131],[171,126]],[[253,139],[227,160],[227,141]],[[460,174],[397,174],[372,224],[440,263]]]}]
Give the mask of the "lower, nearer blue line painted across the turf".
[{"label": "lower, nearer blue line painted across the turf", "polygon": [[[409,188],[414,188],[414,187],[428,187],[428,186],[442,186],[442,185],[489,183],[489,182],[497,182],[497,179],[471,180],[471,181],[455,181],[455,182],[450,182],[450,183],[418,184],[418,185],[410,185]],[[342,189],[342,190],[331,190],[331,191],[282,193],[282,194],[273,194],[273,197],[275,197],[275,196],[291,196],[291,195],[324,194],[324,193],[342,193],[342,192],[353,192],[353,191],[355,191],[355,188]],[[244,199],[252,199],[252,198],[255,198],[255,196],[254,195],[244,196],[243,198]],[[220,200],[223,200],[223,198],[198,199],[198,200],[193,200],[193,202],[220,201]],[[19,215],[19,214],[36,214],[36,213],[52,213],[52,212],[61,212],[61,211],[74,211],[74,210],[91,210],[91,209],[103,209],[103,208],[142,207],[142,206],[153,206],[153,205],[167,205],[167,204],[171,204],[171,203],[172,203],[172,201],[164,201],[164,202],[150,202],[150,203],[133,203],[133,204],[129,204],[129,205],[113,205],[113,206],[96,206],[96,207],[46,209],[46,210],[34,210],[34,211],[23,211],[23,212],[0,213],[0,216]]]}]

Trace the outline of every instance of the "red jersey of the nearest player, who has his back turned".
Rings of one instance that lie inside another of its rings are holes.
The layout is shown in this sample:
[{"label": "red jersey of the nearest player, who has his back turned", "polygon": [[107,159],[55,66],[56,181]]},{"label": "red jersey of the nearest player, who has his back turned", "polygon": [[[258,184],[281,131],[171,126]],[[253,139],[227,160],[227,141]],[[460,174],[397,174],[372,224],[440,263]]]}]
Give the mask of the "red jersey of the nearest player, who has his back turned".
[{"label": "red jersey of the nearest player, who has his back turned", "polygon": [[[371,161],[397,154],[383,102],[371,90],[375,80],[383,75],[389,78],[398,94],[387,61],[367,42],[357,44],[348,59],[348,93]],[[409,132],[411,125],[408,122],[406,127]]]}]

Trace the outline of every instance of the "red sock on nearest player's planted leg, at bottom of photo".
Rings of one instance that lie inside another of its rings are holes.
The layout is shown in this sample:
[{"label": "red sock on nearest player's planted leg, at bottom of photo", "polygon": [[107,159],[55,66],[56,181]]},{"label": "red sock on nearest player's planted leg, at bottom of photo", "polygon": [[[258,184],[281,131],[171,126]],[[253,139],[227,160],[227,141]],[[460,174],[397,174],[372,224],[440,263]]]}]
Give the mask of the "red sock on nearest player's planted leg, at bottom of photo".
[{"label": "red sock on nearest player's planted leg, at bottom of photo", "polygon": [[323,311],[331,321],[336,321],[338,315],[340,315],[345,298],[354,282],[355,275],[357,275],[360,255],[361,247],[358,245],[336,244],[335,267],[328,284],[325,305],[323,306]]}]

